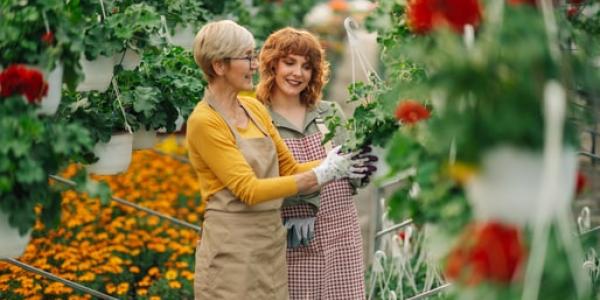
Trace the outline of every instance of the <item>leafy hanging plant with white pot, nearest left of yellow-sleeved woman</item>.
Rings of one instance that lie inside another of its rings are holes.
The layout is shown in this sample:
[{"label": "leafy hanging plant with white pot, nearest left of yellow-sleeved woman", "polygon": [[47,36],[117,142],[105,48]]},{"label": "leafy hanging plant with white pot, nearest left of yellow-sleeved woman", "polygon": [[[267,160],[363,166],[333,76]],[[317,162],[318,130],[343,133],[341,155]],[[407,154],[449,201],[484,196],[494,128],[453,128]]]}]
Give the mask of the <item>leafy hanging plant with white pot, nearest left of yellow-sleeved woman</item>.
[{"label": "leafy hanging plant with white pot, nearest left of yellow-sleeved woman", "polygon": [[61,118],[93,128],[94,149],[86,153],[87,170],[112,175],[127,170],[131,162],[133,136],[127,130],[122,105],[114,93],[65,91],[59,108]]}]

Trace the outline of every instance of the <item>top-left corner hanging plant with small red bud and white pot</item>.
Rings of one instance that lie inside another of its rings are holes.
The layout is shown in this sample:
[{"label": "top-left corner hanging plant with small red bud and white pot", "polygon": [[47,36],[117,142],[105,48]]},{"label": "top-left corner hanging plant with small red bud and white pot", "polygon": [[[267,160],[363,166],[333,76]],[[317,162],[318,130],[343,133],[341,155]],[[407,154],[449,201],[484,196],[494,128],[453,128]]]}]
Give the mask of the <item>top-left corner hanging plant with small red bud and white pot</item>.
[{"label": "top-left corner hanging plant with small red bud and white pot", "polygon": [[48,94],[38,113],[52,115],[61,98],[63,77],[74,86],[83,48],[81,15],[75,3],[62,1],[3,1],[0,4],[0,69],[27,64],[42,71]]}]

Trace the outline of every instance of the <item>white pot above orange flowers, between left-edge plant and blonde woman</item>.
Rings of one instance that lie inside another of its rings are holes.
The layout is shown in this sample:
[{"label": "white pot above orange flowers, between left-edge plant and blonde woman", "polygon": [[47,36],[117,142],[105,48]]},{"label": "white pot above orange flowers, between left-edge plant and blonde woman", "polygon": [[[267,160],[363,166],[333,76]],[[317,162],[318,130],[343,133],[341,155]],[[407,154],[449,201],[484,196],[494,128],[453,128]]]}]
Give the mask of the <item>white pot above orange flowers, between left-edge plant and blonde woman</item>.
[{"label": "white pot above orange flowers, between left-edge plant and blonde woman", "polygon": [[87,166],[87,170],[98,175],[114,175],[126,171],[131,163],[132,144],[132,134],[113,134],[108,143],[96,144],[94,154],[99,160]]}]

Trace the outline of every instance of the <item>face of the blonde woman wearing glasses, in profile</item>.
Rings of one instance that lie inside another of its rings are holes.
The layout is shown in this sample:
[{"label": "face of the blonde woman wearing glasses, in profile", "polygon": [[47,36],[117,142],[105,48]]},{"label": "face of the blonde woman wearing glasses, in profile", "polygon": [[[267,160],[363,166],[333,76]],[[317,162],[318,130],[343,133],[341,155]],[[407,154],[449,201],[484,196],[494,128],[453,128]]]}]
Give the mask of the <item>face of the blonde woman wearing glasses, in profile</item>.
[{"label": "face of the blonde woman wearing glasses, in profile", "polygon": [[[252,58],[252,59],[251,59]],[[228,65],[223,74],[225,80],[238,91],[250,91],[254,85],[252,75],[258,69],[258,61],[255,59],[253,49],[247,49],[239,57],[227,59]]]}]

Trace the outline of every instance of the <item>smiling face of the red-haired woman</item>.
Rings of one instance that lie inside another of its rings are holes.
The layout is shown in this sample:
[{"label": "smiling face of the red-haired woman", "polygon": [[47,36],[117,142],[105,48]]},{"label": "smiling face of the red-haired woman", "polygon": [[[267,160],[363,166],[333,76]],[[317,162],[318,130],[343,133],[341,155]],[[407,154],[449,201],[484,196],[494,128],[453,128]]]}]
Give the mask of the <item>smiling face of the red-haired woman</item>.
[{"label": "smiling face of the red-haired woman", "polygon": [[312,78],[312,65],[306,57],[289,54],[279,59],[275,67],[274,93],[300,96]]}]

